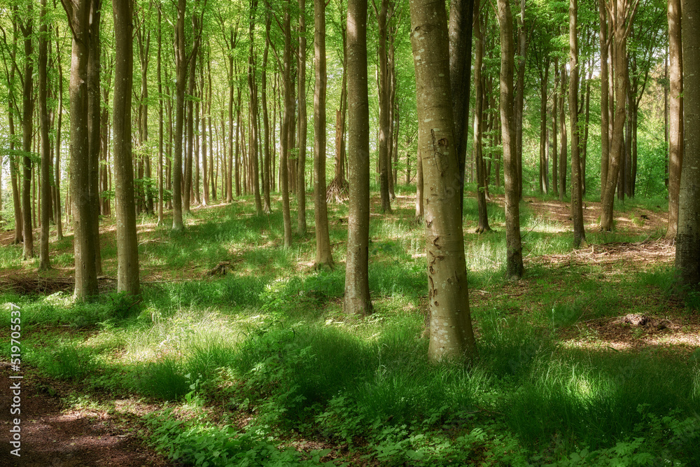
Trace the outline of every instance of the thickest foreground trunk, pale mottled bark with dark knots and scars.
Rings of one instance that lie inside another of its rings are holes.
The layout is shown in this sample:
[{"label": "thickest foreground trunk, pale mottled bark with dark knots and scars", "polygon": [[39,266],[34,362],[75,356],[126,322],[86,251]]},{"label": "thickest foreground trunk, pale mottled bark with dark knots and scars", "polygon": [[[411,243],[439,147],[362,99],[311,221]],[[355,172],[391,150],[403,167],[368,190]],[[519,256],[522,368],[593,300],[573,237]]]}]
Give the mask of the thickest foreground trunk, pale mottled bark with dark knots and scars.
[{"label": "thickest foreground trunk, pale mottled bark with dark knots and scars", "polygon": [[458,171],[449,78],[447,18],[442,1],[411,4],[419,147],[426,182],[428,309],[433,361],[476,357],[464,258],[462,217],[451,174]]}]

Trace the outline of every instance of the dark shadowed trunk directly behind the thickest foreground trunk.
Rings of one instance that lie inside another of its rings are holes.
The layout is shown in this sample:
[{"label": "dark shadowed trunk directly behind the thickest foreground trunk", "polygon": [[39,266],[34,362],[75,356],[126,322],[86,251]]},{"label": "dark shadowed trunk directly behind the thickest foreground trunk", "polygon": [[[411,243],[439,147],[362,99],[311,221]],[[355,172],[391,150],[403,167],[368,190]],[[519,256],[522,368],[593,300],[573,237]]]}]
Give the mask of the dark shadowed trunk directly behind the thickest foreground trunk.
[{"label": "dark shadowed trunk directly behind the thickest foreground trunk", "polygon": [[449,78],[454,116],[454,145],[457,156],[454,189],[459,193],[460,212],[464,211],[464,177],[469,133],[469,90],[472,69],[472,23],[475,20],[478,21],[479,18],[478,15],[474,15],[474,0],[453,0],[450,2]]}]

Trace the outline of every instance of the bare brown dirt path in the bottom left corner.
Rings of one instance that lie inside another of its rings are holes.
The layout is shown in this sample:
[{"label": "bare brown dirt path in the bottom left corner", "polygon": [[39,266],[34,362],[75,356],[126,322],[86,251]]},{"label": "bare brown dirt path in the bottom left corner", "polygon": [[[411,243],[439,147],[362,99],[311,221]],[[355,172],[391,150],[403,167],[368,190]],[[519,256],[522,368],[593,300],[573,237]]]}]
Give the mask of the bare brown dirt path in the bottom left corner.
[{"label": "bare brown dirt path in the bottom left corner", "polygon": [[[0,362],[0,466],[22,467],[165,467],[165,461],[127,433],[109,414],[98,411],[65,411],[53,387],[25,372],[23,379],[9,365]],[[13,389],[20,381],[21,414],[10,414]],[[60,389],[59,389],[60,391]],[[18,458],[10,454],[8,435],[12,420],[20,417],[22,445]]]}]

